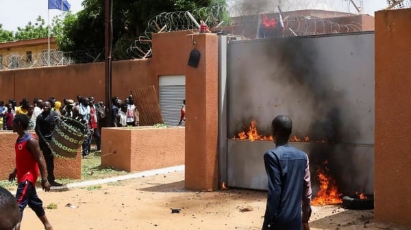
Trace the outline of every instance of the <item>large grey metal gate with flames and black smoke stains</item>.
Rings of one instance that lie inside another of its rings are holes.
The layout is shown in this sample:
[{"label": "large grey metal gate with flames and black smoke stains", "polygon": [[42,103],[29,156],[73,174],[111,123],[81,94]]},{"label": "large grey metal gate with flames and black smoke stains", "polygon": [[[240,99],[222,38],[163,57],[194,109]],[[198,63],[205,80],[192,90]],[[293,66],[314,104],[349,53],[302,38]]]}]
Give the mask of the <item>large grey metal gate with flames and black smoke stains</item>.
[{"label": "large grey metal gate with flames and black smoke stains", "polygon": [[310,157],[314,204],[373,194],[373,32],[221,37],[220,48],[221,183],[267,188],[262,156],[275,146],[271,120],[285,114],[290,145]]}]

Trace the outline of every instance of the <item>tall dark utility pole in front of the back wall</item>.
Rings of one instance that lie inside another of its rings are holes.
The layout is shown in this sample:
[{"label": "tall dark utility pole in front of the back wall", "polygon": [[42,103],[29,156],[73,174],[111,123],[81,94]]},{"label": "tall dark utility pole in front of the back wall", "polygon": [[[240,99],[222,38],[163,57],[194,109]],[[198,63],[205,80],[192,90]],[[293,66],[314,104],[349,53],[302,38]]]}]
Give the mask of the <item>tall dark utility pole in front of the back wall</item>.
[{"label": "tall dark utility pole in front of the back wall", "polygon": [[107,115],[107,127],[112,124],[111,110],[112,110],[112,39],[113,39],[113,2],[112,0],[105,0],[105,35],[104,35],[104,53],[105,53],[105,100],[109,113]]}]

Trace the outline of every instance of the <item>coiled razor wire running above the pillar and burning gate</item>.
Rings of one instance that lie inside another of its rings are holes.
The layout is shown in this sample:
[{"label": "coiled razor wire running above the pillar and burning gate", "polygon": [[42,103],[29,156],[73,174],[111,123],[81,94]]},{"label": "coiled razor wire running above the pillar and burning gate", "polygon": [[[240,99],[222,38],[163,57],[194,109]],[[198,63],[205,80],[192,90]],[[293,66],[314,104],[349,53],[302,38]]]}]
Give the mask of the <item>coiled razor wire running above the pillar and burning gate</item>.
[{"label": "coiled razor wire running above the pillar and burning gate", "polygon": [[[410,0],[409,0],[410,1]],[[360,1],[362,4],[362,1]],[[267,5],[269,4],[269,5]],[[344,5],[345,4],[345,5]],[[151,57],[151,38],[153,33],[171,31],[199,31],[200,20],[208,27],[224,29],[227,26],[242,27],[242,21],[236,18],[244,16],[261,16],[262,14],[277,14],[278,6],[283,11],[292,10],[336,10],[347,8],[345,12],[335,12],[335,16],[350,16],[347,0],[316,0],[316,1],[262,1],[262,0],[229,0],[227,5],[214,5],[209,8],[199,8],[190,11],[164,12],[149,20],[145,33],[140,35],[123,51],[123,55],[134,59]],[[360,6],[362,7],[362,5]],[[303,13],[301,13],[303,14]],[[308,14],[308,12],[306,12]],[[308,16],[308,15],[307,15]],[[260,20],[260,19],[259,19]],[[341,25],[332,20],[306,16],[290,16],[284,20],[285,29],[282,37],[295,35],[318,35],[326,33],[349,33],[361,31],[359,23]],[[253,34],[232,34],[240,39],[259,38],[258,31]]]}]

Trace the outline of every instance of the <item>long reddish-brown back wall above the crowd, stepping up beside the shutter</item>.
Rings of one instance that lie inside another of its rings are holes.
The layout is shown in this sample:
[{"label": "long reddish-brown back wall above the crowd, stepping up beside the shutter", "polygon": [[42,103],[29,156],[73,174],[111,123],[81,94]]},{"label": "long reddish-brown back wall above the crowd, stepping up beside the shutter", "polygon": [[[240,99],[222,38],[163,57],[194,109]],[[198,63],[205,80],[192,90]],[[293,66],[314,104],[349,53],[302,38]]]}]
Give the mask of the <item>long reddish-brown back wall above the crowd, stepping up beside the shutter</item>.
[{"label": "long reddish-brown back wall above the crowd, stepping up beside the shutter", "polygon": [[[130,90],[155,85],[158,76],[184,75],[192,43],[188,31],[153,35],[153,58],[114,61],[112,96],[126,98]],[[105,66],[86,63],[0,71],[0,100],[22,98],[75,99],[77,94],[105,101]],[[45,90],[47,89],[47,90]],[[107,102],[106,102],[107,103]]]}]

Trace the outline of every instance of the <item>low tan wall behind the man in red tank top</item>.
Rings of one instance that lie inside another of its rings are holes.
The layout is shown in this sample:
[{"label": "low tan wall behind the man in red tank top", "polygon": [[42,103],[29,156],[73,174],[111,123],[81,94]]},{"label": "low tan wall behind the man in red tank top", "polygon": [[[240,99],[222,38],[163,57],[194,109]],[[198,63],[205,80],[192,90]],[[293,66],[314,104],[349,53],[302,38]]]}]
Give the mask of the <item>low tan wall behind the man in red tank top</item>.
[{"label": "low tan wall behind the man in red tank top", "polygon": [[[36,134],[34,135],[36,136]],[[9,173],[16,165],[16,152],[14,150],[16,139],[16,133],[0,132],[0,179],[8,179]],[[54,167],[56,179],[80,179],[82,177],[81,152],[77,152],[75,159],[54,158]]]}]

